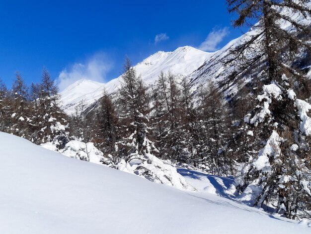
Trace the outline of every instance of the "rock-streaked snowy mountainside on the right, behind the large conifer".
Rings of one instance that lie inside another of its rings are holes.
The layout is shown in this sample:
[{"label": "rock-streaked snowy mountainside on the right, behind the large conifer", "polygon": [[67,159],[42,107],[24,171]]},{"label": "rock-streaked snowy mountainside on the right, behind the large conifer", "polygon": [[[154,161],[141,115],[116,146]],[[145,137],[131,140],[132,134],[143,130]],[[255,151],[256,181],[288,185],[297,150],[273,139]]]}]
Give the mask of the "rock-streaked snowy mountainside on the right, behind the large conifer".
[{"label": "rock-streaked snowy mountainside on the right, behind the large conifer", "polygon": [[[311,2],[308,2],[307,5],[309,8],[311,7]],[[307,19],[300,13],[293,11],[288,8],[284,8],[281,13],[283,15],[286,15],[290,19],[294,19],[299,23],[306,23],[308,25],[308,22],[310,22],[311,17],[308,17]],[[189,79],[193,81],[193,83],[200,85],[202,83],[207,82],[208,80],[212,80],[215,83],[222,83],[228,78],[229,74],[232,74],[234,69],[236,68],[237,64],[239,61],[235,61],[233,64],[231,64],[230,67],[224,66],[224,61],[228,59],[230,56],[230,51],[245,41],[249,40],[249,38],[255,34],[258,33],[258,30],[260,30],[258,27],[259,22],[254,25],[254,27],[250,28],[249,31],[247,31],[245,34],[241,35],[240,37],[233,39],[230,41],[227,45],[225,45],[223,48],[220,50],[216,51],[213,53],[205,62],[204,64],[194,71],[192,74],[189,75]],[[281,20],[279,22],[280,27],[282,29],[285,29],[287,31],[292,31],[293,25],[290,23],[290,21],[287,20]],[[305,35],[306,38],[310,37],[310,35]],[[246,57],[251,58],[255,57],[256,53],[260,52],[260,46],[258,45],[258,40],[254,42],[254,45],[252,46],[252,51],[249,52]],[[258,45],[258,46],[256,46]],[[304,62],[303,62],[304,61]],[[310,67],[310,62],[311,62],[311,55],[310,54],[305,54],[302,52],[300,56],[296,58],[296,65],[302,70],[306,69],[305,64],[306,63]],[[302,63],[302,64],[300,64]],[[264,61],[261,59],[259,60],[256,64],[253,64],[251,67],[248,69],[247,75],[244,77],[241,77],[243,83],[248,83],[251,82],[254,77],[257,76],[258,72],[260,69],[259,67],[264,65]],[[308,70],[307,70],[308,71]],[[311,78],[311,74],[309,72],[308,76]],[[230,95],[234,96],[238,92],[238,85],[237,82],[231,82],[227,85],[225,89],[223,89],[225,95]]]}]

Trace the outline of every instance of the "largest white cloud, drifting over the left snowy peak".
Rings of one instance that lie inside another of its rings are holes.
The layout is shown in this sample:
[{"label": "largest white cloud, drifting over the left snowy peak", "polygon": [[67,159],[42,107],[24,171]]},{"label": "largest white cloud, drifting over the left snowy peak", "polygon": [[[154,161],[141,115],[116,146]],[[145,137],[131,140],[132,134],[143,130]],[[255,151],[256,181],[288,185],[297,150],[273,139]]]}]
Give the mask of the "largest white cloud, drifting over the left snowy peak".
[{"label": "largest white cloud, drifting over the left snowy peak", "polygon": [[104,53],[96,53],[83,63],[75,63],[60,72],[57,84],[60,91],[74,82],[87,79],[104,82],[107,72],[112,69],[112,63],[108,61]]}]

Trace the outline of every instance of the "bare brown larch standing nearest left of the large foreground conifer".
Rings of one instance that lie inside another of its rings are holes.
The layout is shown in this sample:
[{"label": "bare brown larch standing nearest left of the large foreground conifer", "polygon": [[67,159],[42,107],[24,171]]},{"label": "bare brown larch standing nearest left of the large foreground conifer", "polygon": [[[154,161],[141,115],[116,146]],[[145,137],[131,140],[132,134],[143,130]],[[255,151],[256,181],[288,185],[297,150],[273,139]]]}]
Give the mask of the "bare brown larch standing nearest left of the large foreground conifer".
[{"label": "bare brown larch standing nearest left of the large foreground conifer", "polygon": [[199,89],[197,105],[197,145],[200,149],[201,163],[211,174],[232,174],[231,158],[220,155],[229,135],[230,114],[228,104],[221,91],[210,81]]}]

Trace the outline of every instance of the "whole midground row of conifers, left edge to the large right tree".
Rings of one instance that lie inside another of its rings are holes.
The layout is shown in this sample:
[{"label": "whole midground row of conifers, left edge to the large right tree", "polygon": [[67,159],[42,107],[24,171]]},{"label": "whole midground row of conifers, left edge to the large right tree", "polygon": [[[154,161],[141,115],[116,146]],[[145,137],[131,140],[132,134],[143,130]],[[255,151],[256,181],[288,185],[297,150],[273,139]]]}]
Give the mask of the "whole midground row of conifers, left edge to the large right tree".
[{"label": "whole midground row of conifers, left edge to the large right tree", "polygon": [[46,69],[41,83],[30,87],[17,72],[11,89],[0,81],[0,130],[59,149],[72,139],[93,142],[113,167],[152,153],[209,173],[233,174],[232,159],[219,156],[232,135],[229,106],[212,82],[195,89],[185,78],[161,73],[147,86],[129,60],[122,79],[116,93],[103,90],[98,108],[67,116]]}]

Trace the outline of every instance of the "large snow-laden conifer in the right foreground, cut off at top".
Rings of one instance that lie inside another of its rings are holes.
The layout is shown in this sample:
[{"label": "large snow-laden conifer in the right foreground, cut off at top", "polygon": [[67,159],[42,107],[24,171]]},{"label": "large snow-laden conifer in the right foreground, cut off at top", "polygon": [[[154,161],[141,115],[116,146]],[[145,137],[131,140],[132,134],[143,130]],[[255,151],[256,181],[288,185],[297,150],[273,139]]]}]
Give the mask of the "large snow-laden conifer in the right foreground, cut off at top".
[{"label": "large snow-laden conifer in the right foreground, cut off at top", "polygon": [[306,123],[310,105],[297,95],[302,89],[310,97],[310,82],[294,62],[295,56],[311,49],[303,37],[311,28],[309,0],[227,3],[229,12],[237,15],[233,26],[253,27],[227,60],[227,65],[235,66],[228,82],[247,75],[245,71],[254,66],[262,68],[253,84],[252,109],[224,151],[234,152],[244,163],[236,187],[252,191],[254,205],[273,206],[287,218],[305,216],[311,201],[311,168],[305,163],[310,158]]}]

